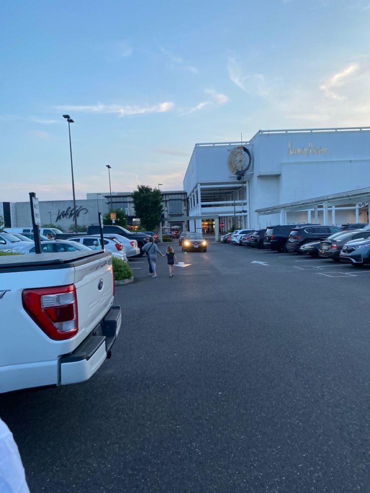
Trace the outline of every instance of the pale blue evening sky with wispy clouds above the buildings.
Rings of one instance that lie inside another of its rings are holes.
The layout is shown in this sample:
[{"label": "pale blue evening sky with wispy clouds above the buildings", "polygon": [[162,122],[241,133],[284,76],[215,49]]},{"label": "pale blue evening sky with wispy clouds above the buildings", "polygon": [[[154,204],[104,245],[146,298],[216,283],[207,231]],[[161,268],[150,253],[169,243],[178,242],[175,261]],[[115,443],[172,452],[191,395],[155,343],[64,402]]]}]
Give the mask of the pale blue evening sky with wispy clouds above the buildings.
[{"label": "pale blue evening sky with wispy clouds above the buildings", "polygon": [[370,126],[370,0],[2,0],[0,202],[181,190],[194,145]]}]

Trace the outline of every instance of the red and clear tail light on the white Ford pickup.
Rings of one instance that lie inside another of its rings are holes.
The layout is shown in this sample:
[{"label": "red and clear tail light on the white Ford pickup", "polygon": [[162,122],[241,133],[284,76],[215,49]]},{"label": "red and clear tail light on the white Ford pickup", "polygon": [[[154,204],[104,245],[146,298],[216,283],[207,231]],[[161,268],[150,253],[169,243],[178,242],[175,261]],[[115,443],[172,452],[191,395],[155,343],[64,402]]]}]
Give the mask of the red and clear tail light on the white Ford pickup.
[{"label": "red and clear tail light on the white Ford pickup", "polygon": [[25,289],[23,307],[47,336],[56,341],[78,332],[77,294],[74,284]]}]

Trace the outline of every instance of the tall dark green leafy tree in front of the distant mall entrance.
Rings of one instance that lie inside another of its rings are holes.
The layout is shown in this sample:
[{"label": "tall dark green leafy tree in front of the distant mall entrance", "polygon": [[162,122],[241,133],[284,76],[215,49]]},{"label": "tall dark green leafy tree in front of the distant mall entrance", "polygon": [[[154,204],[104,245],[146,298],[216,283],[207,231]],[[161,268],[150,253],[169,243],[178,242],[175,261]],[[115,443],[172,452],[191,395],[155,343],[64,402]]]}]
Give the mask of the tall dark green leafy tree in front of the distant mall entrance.
[{"label": "tall dark green leafy tree in front of the distant mall entrance", "polygon": [[163,213],[162,194],[158,188],[138,185],[132,194],[135,213],[141,224],[149,231],[154,230]]}]

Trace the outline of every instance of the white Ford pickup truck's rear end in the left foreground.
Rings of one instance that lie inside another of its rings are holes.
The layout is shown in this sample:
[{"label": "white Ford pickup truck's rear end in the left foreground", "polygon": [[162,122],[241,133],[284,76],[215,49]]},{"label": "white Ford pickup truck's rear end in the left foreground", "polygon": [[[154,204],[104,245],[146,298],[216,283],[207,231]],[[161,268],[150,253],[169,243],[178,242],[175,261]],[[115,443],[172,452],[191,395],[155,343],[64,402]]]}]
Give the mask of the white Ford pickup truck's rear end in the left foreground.
[{"label": "white Ford pickup truck's rear end in the left foreground", "polygon": [[0,257],[0,393],[87,380],[121,327],[111,253]]}]

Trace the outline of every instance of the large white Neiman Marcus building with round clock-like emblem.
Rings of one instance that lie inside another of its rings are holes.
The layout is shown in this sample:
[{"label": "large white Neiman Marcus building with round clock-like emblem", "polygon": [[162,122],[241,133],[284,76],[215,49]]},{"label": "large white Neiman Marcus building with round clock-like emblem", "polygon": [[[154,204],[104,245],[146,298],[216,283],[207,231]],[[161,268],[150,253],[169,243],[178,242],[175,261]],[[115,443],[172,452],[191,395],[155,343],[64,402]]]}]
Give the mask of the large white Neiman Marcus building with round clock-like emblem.
[{"label": "large white Neiman Marcus building with round clock-like emblem", "polygon": [[259,130],[242,144],[196,144],[183,188],[192,231],[368,222],[370,127]]}]

